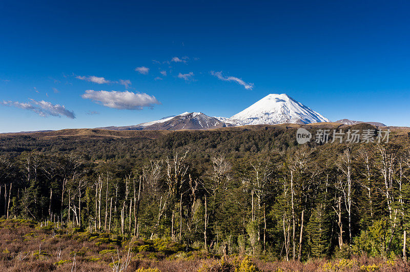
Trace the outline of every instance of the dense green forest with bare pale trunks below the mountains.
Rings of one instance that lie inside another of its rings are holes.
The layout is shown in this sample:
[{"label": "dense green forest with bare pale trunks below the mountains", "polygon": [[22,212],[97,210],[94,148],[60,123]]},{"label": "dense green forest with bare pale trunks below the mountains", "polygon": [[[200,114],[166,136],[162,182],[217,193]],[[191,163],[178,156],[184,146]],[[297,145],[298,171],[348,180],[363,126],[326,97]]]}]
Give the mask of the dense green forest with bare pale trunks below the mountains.
[{"label": "dense green forest with bare pale trunks below the mountains", "polygon": [[213,254],[406,258],[406,133],[388,143],[298,145],[294,132],[3,136],[0,216],[169,237]]}]

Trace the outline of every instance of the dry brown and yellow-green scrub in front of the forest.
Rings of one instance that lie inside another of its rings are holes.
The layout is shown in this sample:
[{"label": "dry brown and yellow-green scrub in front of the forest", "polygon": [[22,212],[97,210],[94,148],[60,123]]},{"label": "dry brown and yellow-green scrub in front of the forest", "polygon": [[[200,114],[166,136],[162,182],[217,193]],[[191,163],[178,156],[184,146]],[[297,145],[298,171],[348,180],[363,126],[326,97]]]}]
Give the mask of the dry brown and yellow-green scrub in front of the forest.
[{"label": "dry brown and yellow-green scrub in front of the forest", "polygon": [[128,240],[115,234],[89,233],[51,222],[20,219],[0,221],[0,247],[2,271],[410,270],[409,265],[399,259],[358,257],[286,262],[243,256],[210,256],[169,240]]}]

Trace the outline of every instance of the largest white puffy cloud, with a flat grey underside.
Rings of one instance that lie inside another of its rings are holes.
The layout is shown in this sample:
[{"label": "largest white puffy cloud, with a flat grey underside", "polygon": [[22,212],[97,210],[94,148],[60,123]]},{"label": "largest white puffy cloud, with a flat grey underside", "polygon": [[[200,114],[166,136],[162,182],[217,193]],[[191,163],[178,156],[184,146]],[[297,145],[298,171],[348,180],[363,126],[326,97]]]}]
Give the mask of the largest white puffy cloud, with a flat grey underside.
[{"label": "largest white puffy cloud, with a flat grey underside", "polygon": [[87,90],[81,97],[99,102],[106,107],[120,110],[142,110],[160,104],[155,96],[146,93]]}]

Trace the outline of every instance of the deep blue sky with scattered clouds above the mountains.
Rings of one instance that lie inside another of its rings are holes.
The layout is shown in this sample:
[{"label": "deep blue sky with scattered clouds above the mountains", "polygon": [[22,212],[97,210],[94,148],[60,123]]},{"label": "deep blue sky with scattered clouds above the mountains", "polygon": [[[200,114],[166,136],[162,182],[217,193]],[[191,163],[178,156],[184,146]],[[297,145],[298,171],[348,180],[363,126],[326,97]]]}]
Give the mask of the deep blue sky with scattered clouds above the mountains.
[{"label": "deep blue sky with scattered clouds above the mountains", "polygon": [[0,132],[230,117],[269,93],[331,120],[410,126],[409,10],[406,1],[2,1]]}]

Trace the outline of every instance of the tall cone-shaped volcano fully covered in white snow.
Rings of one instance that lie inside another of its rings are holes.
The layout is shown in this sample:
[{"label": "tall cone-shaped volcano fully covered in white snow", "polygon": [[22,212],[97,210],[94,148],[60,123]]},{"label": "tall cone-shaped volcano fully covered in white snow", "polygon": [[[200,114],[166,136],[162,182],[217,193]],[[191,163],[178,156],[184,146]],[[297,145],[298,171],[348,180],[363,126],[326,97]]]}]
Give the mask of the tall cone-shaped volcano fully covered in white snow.
[{"label": "tall cone-shaped volcano fully covered in white snow", "polygon": [[[221,120],[222,121],[222,120]],[[287,94],[269,94],[223,122],[233,125],[329,122]]]}]

